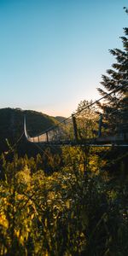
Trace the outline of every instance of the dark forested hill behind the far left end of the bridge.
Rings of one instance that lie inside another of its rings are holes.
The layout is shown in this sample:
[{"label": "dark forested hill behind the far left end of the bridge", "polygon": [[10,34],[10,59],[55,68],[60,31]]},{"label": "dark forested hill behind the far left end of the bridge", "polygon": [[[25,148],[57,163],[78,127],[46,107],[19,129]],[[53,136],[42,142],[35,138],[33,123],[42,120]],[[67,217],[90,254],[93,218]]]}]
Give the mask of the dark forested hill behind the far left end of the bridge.
[{"label": "dark forested hill behind the far left end of the bridge", "polygon": [[[9,146],[6,143],[6,138],[10,145],[17,142],[24,131],[24,115],[26,114],[26,127],[30,136],[34,136],[42,132],[52,125],[55,125],[57,120],[44,113],[39,113],[32,110],[22,110],[20,108],[1,108],[0,109],[0,154],[3,151],[8,151]],[[32,148],[32,144],[31,144]],[[18,151],[27,154],[30,151],[30,145],[26,142],[23,136],[20,141]]]}]

